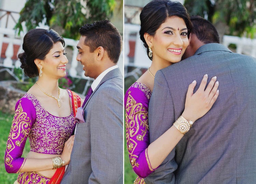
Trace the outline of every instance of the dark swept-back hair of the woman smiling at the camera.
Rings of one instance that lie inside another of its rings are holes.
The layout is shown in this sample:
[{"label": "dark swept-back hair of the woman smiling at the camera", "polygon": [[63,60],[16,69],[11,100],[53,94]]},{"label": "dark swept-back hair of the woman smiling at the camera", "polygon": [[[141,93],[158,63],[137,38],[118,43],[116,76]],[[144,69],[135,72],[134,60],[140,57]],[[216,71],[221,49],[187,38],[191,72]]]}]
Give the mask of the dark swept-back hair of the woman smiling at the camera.
[{"label": "dark swept-back hair of the woman smiling at the camera", "polygon": [[[177,16],[184,20],[187,29],[188,37],[192,29],[192,23],[190,21],[189,15],[185,6],[180,2],[173,2],[169,0],[153,0],[149,2],[140,13],[140,39],[143,41],[144,47],[147,49],[148,55],[148,45],[144,39],[144,33],[150,35],[155,35],[156,30],[165,22],[167,17]],[[149,57],[149,56],[148,56]],[[152,60],[152,57],[149,57]]]}]

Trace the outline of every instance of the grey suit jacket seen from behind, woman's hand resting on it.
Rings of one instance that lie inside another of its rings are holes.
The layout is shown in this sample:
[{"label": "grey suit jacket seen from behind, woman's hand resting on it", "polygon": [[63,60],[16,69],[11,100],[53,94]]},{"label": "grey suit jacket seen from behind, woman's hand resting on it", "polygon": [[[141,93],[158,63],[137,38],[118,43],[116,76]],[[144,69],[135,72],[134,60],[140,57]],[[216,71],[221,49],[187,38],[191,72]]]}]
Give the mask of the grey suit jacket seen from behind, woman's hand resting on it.
[{"label": "grey suit jacket seen from behind, woman's hand resting on it", "polygon": [[[256,59],[206,44],[194,56],[159,70],[149,105],[150,142],[182,114],[188,85],[208,74],[219,97],[198,119],[150,183],[256,183]],[[194,91],[194,92],[195,92]]]}]

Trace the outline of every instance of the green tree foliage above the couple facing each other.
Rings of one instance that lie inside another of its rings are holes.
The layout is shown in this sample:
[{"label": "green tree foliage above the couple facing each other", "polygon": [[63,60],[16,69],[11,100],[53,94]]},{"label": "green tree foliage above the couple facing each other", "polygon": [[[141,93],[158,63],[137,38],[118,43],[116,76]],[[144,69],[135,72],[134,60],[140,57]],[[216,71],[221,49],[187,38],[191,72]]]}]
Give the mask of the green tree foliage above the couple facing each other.
[{"label": "green tree foliage above the couple facing each other", "polygon": [[27,0],[15,29],[23,31],[24,21],[27,30],[34,29],[45,19],[63,37],[77,39],[83,24],[110,19],[115,6],[115,0]]}]

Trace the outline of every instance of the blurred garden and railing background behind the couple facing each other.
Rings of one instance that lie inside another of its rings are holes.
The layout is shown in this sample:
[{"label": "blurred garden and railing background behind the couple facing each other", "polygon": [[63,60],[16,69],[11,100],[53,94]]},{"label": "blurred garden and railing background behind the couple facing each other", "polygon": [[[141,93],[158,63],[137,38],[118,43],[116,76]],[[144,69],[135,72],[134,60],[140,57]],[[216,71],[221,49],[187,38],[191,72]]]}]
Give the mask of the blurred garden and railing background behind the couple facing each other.
[{"label": "blurred garden and railing background behind the couple facing each other", "polygon": [[[17,59],[26,32],[34,28],[54,29],[64,37],[69,63],[67,76],[59,80],[59,86],[84,97],[93,79],[84,76],[82,65],[76,61],[79,28],[86,23],[108,19],[123,37],[123,5],[123,0],[0,0],[1,184],[10,184],[17,179],[17,174],[8,174],[4,168],[6,141],[17,100],[37,81],[37,78],[24,75]],[[123,72],[123,52],[118,66]],[[29,150],[27,141],[24,155]]]}]

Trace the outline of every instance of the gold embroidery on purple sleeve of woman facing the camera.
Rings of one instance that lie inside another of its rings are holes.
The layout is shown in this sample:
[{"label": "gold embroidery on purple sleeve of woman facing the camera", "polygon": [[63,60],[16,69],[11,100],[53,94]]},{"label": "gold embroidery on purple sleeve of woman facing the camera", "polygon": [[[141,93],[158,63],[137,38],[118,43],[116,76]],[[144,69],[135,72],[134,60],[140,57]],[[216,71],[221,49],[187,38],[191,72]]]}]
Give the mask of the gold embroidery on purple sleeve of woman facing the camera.
[{"label": "gold embroidery on purple sleeve of woman facing the camera", "polygon": [[[130,162],[132,167],[139,167],[136,162],[138,155],[133,154],[138,141],[143,141],[143,137],[148,131],[148,112],[143,107],[142,103],[137,103],[128,91],[128,98],[125,112],[125,126],[126,126],[126,140],[128,143],[128,151],[130,155]],[[140,134],[138,134],[138,132]],[[136,138],[136,140],[134,140]]]}]

